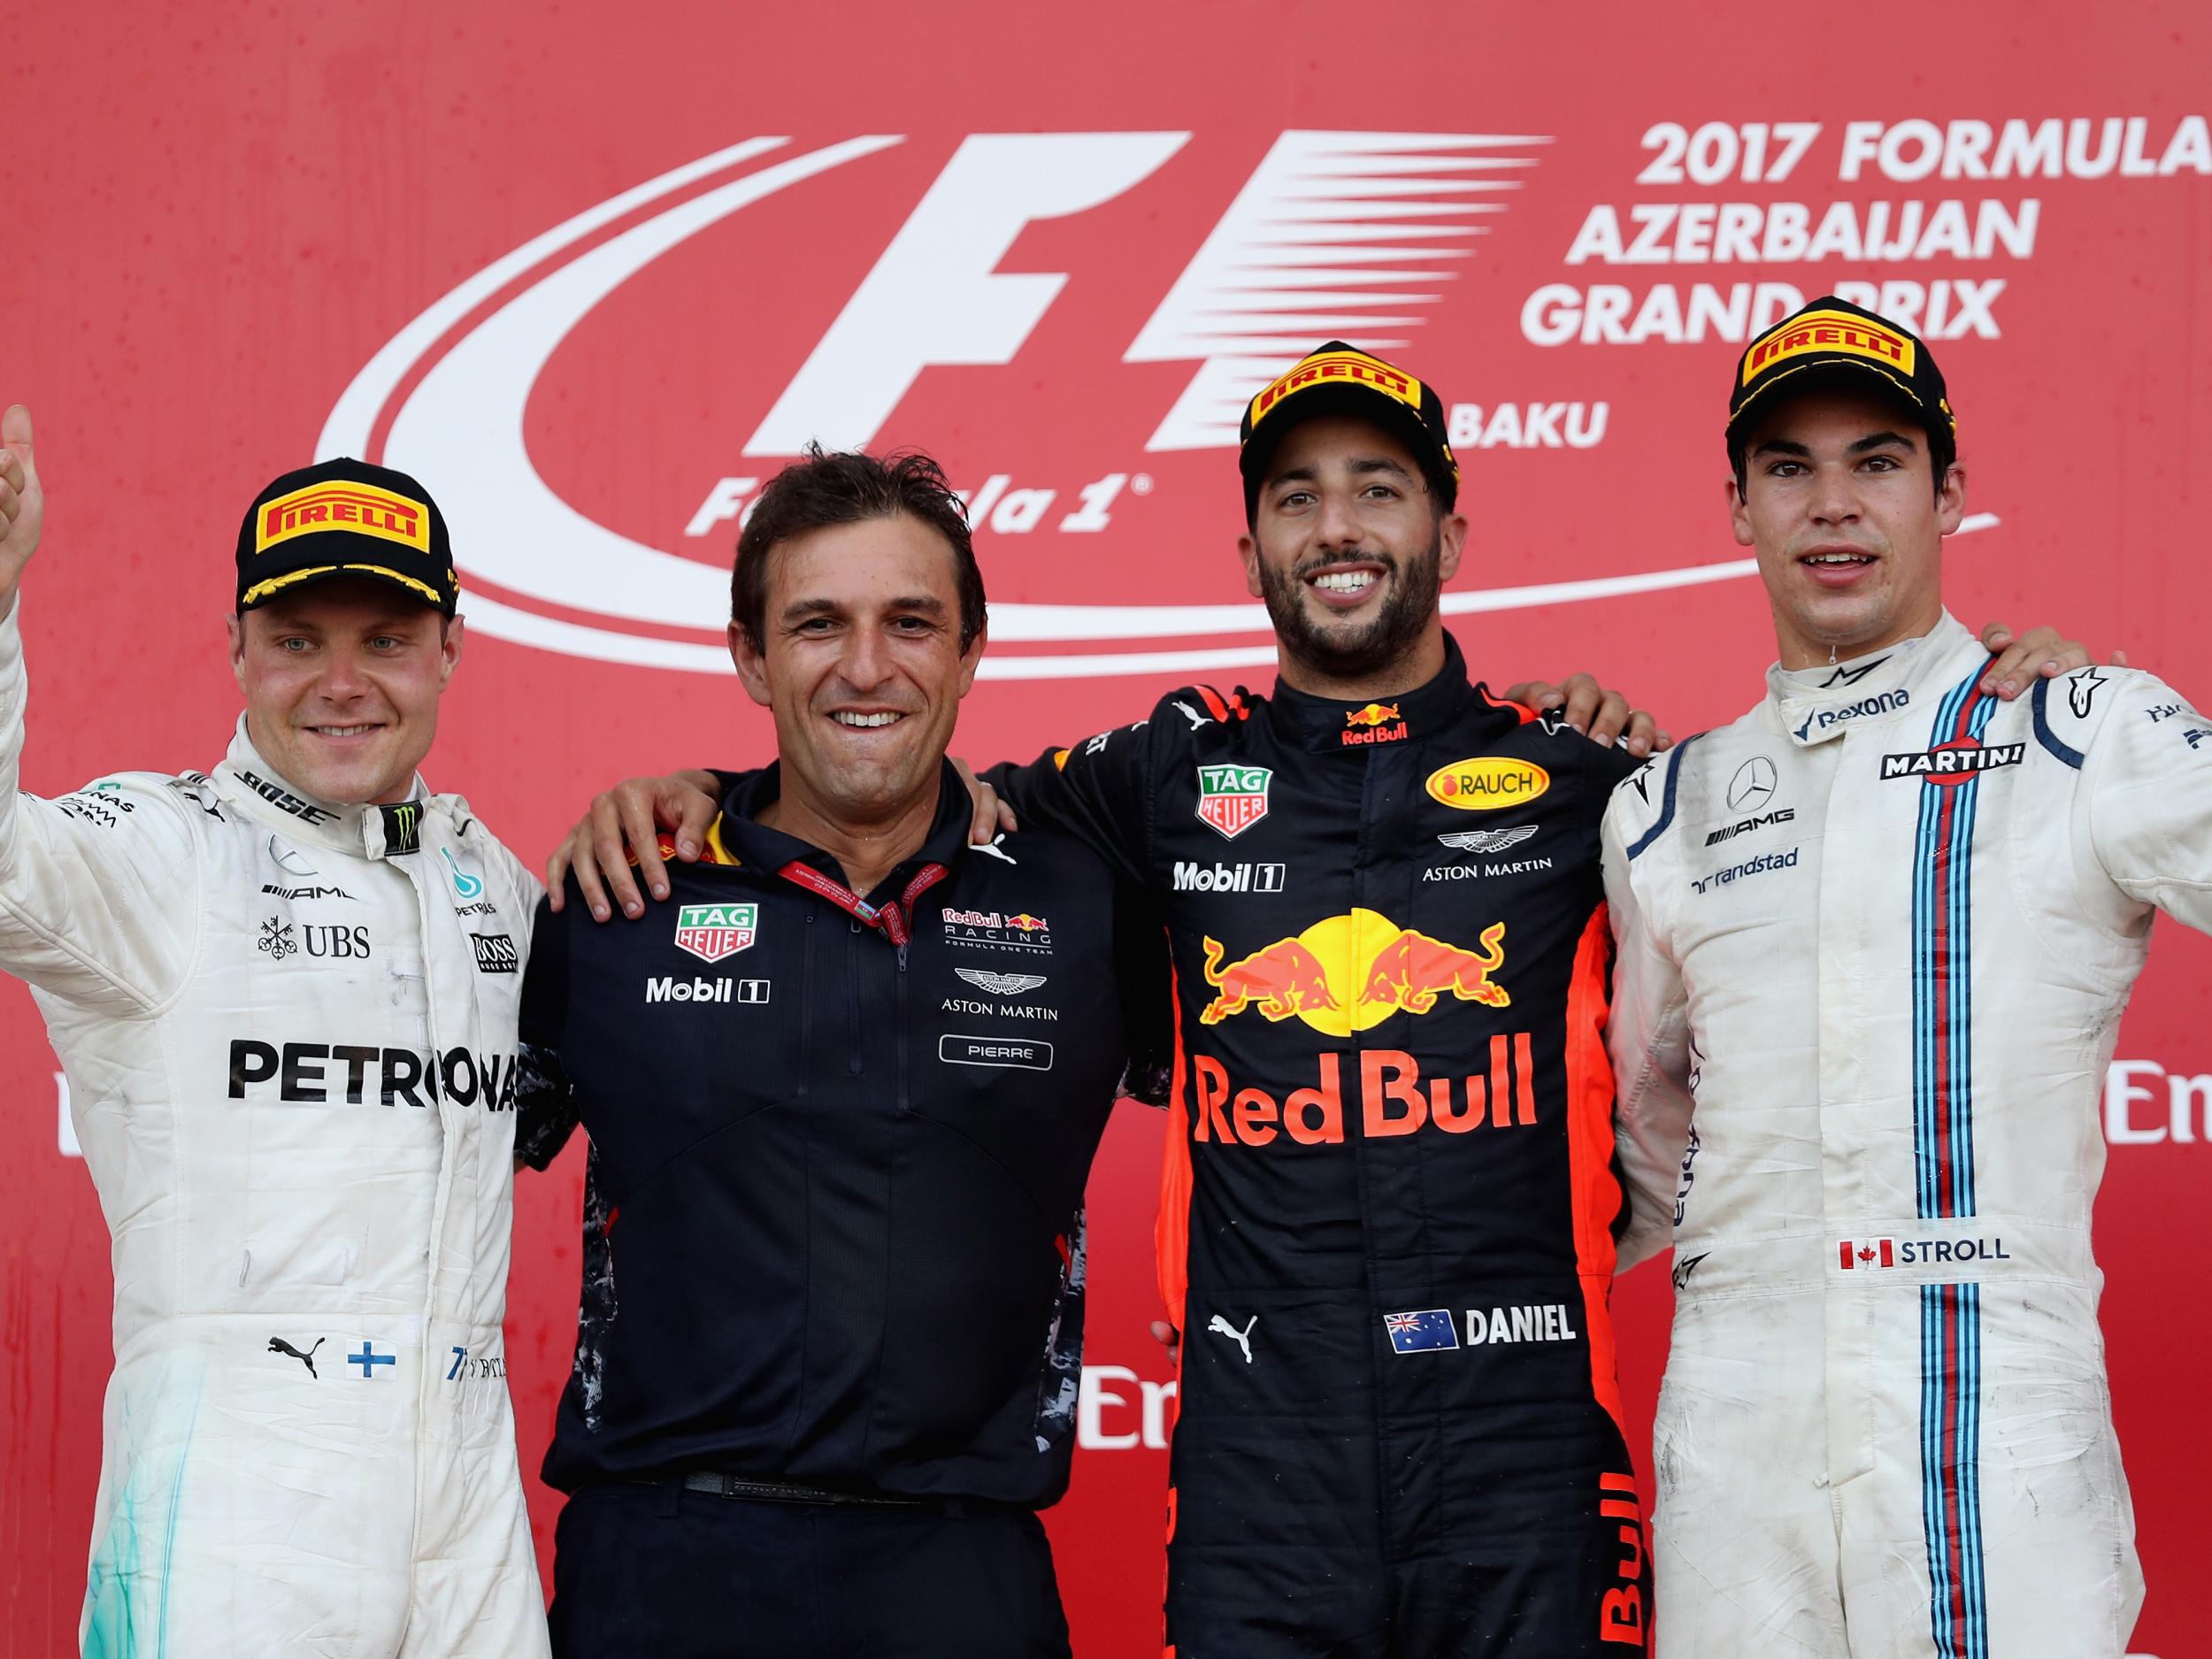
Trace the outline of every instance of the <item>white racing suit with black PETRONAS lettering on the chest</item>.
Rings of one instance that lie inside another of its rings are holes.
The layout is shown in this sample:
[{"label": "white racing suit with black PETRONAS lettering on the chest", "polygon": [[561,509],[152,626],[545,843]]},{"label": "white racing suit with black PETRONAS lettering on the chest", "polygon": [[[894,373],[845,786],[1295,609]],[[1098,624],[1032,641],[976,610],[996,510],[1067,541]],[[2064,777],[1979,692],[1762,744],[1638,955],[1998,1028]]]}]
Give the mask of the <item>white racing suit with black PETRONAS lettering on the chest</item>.
[{"label": "white racing suit with black PETRONAS lettering on the chest", "polygon": [[31,982],[115,1239],[86,1655],[546,1652],[500,1318],[538,885],[456,796],[212,776],[15,792]]}]

